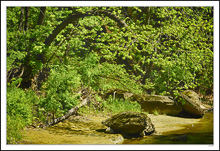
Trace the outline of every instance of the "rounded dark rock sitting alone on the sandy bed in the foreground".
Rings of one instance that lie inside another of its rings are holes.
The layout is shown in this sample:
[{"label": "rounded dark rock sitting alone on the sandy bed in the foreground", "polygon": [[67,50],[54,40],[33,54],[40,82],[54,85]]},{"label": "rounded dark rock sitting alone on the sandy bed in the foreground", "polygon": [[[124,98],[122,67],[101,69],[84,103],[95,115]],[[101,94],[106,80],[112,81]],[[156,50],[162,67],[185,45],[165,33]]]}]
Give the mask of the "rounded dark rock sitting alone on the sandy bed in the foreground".
[{"label": "rounded dark rock sitting alone on the sandy bed in the foreground", "polygon": [[131,111],[113,115],[111,118],[102,121],[102,124],[110,127],[107,128],[110,133],[119,132],[143,136],[155,131],[154,125],[146,114]]}]

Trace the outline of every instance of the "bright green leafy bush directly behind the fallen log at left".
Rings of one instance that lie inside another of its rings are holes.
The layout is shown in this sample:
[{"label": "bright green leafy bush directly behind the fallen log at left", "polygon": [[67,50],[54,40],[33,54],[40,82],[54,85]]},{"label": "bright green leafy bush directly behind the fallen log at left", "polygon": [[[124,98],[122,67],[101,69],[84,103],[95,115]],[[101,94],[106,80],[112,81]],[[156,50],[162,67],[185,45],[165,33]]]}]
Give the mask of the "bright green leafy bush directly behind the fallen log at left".
[{"label": "bright green leafy bush directly behind the fallen log at left", "polygon": [[80,76],[69,66],[52,66],[50,76],[43,85],[45,97],[40,107],[47,113],[60,116],[78,104],[78,95],[74,90],[80,86]]}]

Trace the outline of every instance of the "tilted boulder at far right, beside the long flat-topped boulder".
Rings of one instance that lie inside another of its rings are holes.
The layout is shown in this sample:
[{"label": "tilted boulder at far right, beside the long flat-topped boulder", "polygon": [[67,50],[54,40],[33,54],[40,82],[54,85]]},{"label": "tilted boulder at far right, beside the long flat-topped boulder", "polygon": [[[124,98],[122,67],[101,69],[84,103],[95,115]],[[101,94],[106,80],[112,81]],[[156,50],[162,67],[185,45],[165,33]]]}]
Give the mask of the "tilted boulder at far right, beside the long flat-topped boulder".
[{"label": "tilted boulder at far right, beside the long flat-topped boulder", "polygon": [[202,117],[210,109],[208,105],[201,102],[199,95],[192,90],[181,92],[179,100],[183,110],[195,117]]}]

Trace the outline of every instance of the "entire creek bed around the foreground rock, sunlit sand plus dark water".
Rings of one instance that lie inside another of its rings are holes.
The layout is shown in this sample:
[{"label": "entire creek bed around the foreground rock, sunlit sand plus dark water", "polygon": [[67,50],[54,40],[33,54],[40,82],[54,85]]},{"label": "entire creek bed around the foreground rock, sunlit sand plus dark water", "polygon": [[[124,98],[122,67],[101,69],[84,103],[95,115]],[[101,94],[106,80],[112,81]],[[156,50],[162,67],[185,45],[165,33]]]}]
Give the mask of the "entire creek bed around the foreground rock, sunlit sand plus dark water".
[{"label": "entire creek bed around the foreground rock, sunlit sand plus dark water", "polygon": [[201,119],[149,116],[157,132],[142,138],[105,133],[106,117],[75,116],[47,129],[26,129],[20,144],[213,144],[212,113]]}]

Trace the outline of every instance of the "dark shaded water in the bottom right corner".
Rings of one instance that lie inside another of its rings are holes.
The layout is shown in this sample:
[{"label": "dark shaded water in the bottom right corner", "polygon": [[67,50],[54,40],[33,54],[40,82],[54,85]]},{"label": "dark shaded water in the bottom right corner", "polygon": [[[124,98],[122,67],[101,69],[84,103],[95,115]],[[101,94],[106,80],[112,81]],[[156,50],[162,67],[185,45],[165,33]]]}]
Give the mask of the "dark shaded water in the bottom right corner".
[{"label": "dark shaded water in the bottom right corner", "polygon": [[185,125],[184,129],[126,139],[123,144],[213,144],[213,113],[205,114],[196,124]]}]

